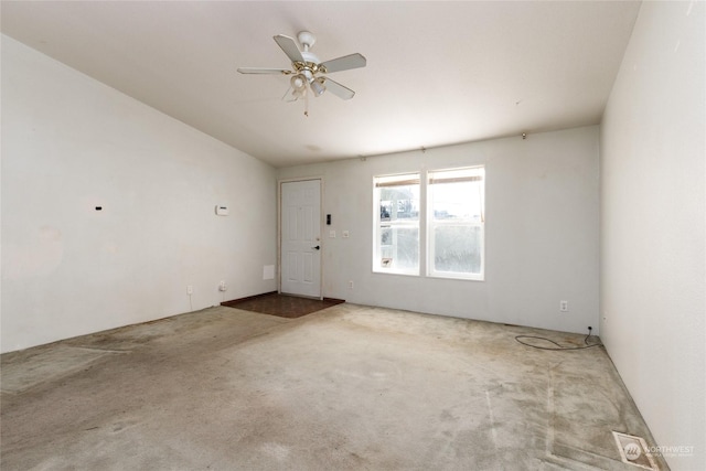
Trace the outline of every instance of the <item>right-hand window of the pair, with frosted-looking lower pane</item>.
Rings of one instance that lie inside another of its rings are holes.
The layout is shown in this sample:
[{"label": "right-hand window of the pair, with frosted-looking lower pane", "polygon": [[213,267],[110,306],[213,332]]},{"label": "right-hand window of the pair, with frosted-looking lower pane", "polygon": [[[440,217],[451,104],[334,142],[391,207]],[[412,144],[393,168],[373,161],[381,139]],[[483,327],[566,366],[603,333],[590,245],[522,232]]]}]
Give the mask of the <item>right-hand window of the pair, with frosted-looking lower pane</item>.
[{"label": "right-hand window of the pair, with frosted-looking lower pane", "polygon": [[428,173],[428,274],[483,279],[482,167]]}]

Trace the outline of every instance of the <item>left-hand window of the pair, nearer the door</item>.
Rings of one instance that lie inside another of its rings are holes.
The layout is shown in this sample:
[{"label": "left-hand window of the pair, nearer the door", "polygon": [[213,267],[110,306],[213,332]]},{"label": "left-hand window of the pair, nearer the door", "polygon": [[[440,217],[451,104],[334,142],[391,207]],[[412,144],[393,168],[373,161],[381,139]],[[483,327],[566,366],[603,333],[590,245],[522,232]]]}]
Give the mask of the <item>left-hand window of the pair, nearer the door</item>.
[{"label": "left-hand window of the pair, nearer the door", "polygon": [[419,275],[419,173],[375,178],[373,270]]}]

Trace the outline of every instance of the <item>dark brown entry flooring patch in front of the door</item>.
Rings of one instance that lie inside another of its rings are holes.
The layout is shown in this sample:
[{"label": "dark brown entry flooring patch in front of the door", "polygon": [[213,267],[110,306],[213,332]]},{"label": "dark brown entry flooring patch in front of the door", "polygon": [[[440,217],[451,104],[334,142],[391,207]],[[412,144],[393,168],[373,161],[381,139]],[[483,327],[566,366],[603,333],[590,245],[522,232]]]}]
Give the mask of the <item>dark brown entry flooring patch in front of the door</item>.
[{"label": "dark brown entry flooring patch in front of the door", "polygon": [[234,301],[222,302],[221,306],[228,308],[244,309],[246,311],[259,312],[263,314],[278,315],[280,318],[300,318],[312,312],[340,304],[342,299],[324,298],[323,300],[311,298],[299,298],[297,296],[268,293],[252,298],[236,299]]}]

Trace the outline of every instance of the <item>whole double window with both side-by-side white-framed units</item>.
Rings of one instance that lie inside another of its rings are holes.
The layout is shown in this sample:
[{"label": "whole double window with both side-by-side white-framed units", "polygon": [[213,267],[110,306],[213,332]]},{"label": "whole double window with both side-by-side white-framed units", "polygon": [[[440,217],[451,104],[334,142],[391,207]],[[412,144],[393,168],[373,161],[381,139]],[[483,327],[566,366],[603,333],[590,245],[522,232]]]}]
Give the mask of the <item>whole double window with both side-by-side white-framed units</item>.
[{"label": "whole double window with both side-by-side white-framed units", "polygon": [[482,167],[375,176],[374,186],[373,271],[418,276],[422,263],[429,277],[483,279]]}]

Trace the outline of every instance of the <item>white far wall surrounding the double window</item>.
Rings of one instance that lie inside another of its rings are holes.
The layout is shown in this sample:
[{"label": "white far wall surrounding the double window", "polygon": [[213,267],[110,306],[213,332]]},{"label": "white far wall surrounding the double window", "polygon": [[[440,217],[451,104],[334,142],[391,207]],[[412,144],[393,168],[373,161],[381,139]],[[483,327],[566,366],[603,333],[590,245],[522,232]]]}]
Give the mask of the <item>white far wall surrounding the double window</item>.
[{"label": "white far wall surrounding the double window", "polygon": [[[586,127],[285,168],[279,178],[323,178],[323,213],[333,218],[322,229],[325,297],[597,333],[598,150],[598,127]],[[373,274],[373,175],[475,164],[486,171],[485,281]],[[559,312],[561,299],[570,312]]]}]

